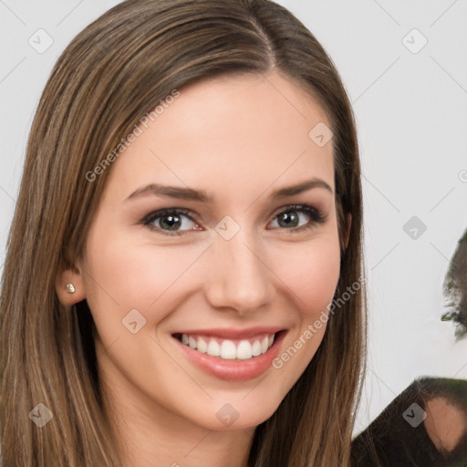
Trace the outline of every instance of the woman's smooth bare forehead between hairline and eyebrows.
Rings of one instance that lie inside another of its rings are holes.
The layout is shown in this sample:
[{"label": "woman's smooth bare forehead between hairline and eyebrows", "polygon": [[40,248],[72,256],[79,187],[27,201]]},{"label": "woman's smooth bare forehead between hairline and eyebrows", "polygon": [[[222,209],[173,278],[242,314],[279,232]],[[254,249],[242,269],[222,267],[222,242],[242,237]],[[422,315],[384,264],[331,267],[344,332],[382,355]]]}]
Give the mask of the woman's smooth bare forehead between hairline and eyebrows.
[{"label": "woman's smooth bare forehead between hairline and eyebrows", "polygon": [[318,146],[309,136],[331,125],[304,88],[273,72],[204,79],[179,92],[162,99],[112,164],[108,183],[119,196],[163,182],[239,198],[312,177],[334,190],[332,140]]}]

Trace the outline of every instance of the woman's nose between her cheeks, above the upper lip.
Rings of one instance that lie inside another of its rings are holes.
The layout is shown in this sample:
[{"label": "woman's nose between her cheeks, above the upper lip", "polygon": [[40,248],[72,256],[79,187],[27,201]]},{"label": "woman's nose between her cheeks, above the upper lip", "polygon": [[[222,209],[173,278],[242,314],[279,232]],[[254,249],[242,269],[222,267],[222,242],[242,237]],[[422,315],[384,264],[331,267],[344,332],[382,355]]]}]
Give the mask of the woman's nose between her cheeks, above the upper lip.
[{"label": "woman's nose between her cheeks, above the upper lip", "polygon": [[234,308],[246,315],[271,301],[274,275],[264,250],[252,238],[243,229],[230,240],[216,237],[210,248],[210,278],[204,285],[213,307]]}]

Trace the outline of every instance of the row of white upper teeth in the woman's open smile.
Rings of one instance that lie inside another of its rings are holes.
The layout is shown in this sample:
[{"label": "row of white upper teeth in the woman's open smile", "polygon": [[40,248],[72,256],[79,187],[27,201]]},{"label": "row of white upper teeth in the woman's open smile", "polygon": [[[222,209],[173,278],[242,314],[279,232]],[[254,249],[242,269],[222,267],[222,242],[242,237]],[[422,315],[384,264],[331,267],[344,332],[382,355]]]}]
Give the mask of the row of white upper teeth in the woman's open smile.
[{"label": "row of white upper teeth in the woman's open smile", "polygon": [[[190,348],[197,349],[203,354],[211,355],[212,357],[220,357],[226,360],[233,360],[235,358],[240,360],[247,360],[249,358],[257,357],[258,355],[267,352],[267,349],[273,345],[275,335],[260,339],[255,339],[253,344],[247,339],[242,339],[237,342],[237,345],[230,339],[215,339],[203,338],[198,336],[189,336],[182,334],[182,343]],[[220,341],[220,343],[218,342]]]}]

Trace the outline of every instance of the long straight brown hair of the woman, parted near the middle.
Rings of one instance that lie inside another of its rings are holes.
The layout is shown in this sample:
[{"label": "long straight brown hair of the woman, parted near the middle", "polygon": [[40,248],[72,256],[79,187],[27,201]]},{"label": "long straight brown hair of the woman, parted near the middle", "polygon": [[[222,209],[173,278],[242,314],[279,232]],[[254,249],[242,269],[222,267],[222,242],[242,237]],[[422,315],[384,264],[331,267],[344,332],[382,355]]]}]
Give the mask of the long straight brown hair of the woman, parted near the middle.
[{"label": "long straight brown hair of the woman, parted near the middle", "polygon": [[[88,305],[63,306],[55,289],[57,271],[81,258],[111,167],[93,182],[87,173],[174,88],[274,68],[327,112],[341,247],[336,298],[361,284],[355,121],[337,69],[315,36],[266,0],[129,0],[113,7],[58,58],[27,142],[0,307],[5,467],[121,466],[103,410]],[[366,313],[361,284],[330,315],[305,372],[256,428],[249,466],[348,466]],[[39,402],[53,414],[40,429],[28,417]]]}]

